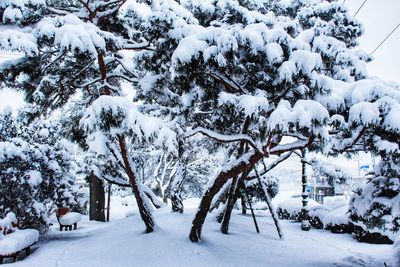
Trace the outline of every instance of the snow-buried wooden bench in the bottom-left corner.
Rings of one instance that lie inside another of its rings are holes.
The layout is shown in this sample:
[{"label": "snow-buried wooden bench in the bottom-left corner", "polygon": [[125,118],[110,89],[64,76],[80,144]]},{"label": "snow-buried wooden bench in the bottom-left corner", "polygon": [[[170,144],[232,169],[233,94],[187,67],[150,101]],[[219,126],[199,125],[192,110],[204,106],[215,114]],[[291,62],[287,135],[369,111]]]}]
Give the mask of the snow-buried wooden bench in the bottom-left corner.
[{"label": "snow-buried wooden bench in the bottom-left corner", "polygon": [[15,262],[22,251],[30,255],[31,246],[39,239],[35,229],[18,229],[18,221],[12,212],[0,220],[0,231],[0,264],[4,258],[13,258]]}]

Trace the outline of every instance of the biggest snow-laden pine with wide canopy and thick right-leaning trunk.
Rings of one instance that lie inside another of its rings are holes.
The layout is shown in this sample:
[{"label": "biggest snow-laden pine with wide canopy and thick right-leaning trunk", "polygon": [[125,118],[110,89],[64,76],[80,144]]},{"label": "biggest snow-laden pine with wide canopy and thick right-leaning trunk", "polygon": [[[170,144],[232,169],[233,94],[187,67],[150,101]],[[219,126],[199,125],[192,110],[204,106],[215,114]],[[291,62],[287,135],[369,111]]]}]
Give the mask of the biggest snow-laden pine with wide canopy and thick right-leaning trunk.
[{"label": "biggest snow-laden pine with wide canopy and thick right-leaning trunk", "polygon": [[[188,135],[201,133],[231,144],[231,158],[203,194],[192,241],[199,241],[213,198],[226,190],[224,184],[233,181],[234,196],[239,181],[254,176],[252,170],[263,158],[278,155],[279,163],[304,148],[351,153],[361,141],[381,136],[383,129],[398,132],[390,119],[399,105],[398,90],[367,79],[370,58],[354,50],[363,28],[341,3],[179,3],[160,1],[144,25],[147,39],[156,41],[152,51],[139,56],[146,75],[138,99],[185,116],[192,128]],[[367,106],[374,107],[373,118]],[[284,137],[295,141],[284,144]],[[379,138],[391,139],[391,149],[398,153],[393,134]],[[371,145],[365,149],[376,152]],[[398,166],[393,157],[390,162]],[[227,223],[234,202],[225,212]],[[227,232],[226,227],[221,230]]]}]

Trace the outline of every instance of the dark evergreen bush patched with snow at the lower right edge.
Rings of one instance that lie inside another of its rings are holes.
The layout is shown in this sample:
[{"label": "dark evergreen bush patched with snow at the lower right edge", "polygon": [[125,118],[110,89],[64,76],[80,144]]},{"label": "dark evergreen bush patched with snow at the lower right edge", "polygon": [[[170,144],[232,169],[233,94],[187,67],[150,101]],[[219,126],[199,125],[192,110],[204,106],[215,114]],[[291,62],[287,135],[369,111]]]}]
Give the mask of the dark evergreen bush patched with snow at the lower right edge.
[{"label": "dark evergreen bush patched with snow at the lower right edge", "polygon": [[398,162],[399,153],[396,159],[392,158],[390,161],[383,159],[376,167],[375,176],[352,196],[350,218],[354,225],[356,239],[369,243],[393,243],[399,236],[400,168]]}]

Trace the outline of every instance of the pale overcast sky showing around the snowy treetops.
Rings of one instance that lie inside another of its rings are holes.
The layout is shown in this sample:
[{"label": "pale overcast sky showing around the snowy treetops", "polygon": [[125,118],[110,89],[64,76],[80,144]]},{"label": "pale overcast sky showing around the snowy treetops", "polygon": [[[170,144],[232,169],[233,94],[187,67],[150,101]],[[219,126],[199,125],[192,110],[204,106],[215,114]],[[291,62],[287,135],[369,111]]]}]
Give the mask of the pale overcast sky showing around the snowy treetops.
[{"label": "pale overcast sky showing around the snowy treetops", "polygon": [[[0,0],[1,1],[1,0]],[[350,14],[354,15],[365,0],[345,0]],[[380,42],[400,23],[400,0],[367,0],[356,18],[365,28],[360,38],[360,49],[371,53]],[[367,65],[370,75],[400,83],[400,27],[374,53],[374,60]],[[0,54],[0,62],[7,55]],[[22,96],[9,90],[0,91],[0,109],[11,105],[19,107]]]}]

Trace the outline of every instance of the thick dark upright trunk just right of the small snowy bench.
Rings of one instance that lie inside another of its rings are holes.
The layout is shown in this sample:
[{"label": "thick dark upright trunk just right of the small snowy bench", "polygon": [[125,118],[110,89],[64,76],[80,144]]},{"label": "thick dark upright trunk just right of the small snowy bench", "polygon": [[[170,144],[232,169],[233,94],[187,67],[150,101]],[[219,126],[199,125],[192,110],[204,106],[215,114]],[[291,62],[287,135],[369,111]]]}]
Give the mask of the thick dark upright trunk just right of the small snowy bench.
[{"label": "thick dark upright trunk just right of the small snowy bench", "polygon": [[89,176],[89,194],[90,194],[90,206],[89,206],[89,220],[105,222],[104,216],[105,208],[105,192],[103,181],[97,177],[94,173]]}]

